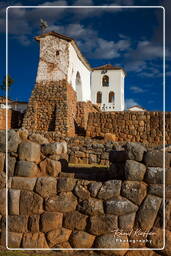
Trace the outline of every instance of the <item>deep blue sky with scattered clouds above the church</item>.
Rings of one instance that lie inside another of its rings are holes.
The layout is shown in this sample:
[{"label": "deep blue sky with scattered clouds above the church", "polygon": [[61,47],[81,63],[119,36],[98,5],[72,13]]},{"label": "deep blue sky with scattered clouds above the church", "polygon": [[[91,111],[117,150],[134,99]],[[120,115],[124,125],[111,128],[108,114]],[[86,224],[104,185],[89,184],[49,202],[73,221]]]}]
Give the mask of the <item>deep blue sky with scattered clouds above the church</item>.
[{"label": "deep blue sky with scattered clouds above the church", "polygon": [[[9,5],[163,5],[166,8],[166,110],[171,111],[169,69],[171,61],[171,1],[167,0],[57,0],[1,1],[1,81],[5,75],[5,7]],[[170,15],[169,15],[170,14]],[[91,66],[111,63],[123,67],[127,107],[148,110],[163,107],[162,33],[163,10],[154,9],[9,9],[9,74],[15,80],[9,95],[27,101],[35,84],[40,18],[48,29],[74,38]]]}]

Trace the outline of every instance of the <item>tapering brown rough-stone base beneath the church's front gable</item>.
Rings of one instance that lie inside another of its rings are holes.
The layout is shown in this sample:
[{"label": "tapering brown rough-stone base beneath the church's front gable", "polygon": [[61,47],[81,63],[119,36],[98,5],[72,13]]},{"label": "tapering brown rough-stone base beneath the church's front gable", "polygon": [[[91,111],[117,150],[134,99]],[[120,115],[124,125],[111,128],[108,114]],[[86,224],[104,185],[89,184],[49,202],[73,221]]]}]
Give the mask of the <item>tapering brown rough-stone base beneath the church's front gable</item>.
[{"label": "tapering brown rough-stone base beneath the church's front gable", "polygon": [[58,136],[73,136],[75,97],[66,80],[36,84],[22,127],[30,131],[55,131]]}]

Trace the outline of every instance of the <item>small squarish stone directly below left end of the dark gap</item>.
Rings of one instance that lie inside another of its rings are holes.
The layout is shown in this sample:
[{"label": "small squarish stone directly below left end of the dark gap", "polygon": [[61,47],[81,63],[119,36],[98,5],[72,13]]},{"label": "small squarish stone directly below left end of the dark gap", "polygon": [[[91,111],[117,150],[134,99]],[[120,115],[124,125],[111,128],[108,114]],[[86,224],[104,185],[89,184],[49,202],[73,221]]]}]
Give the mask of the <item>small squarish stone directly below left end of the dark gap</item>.
[{"label": "small squarish stone directly below left end of the dark gap", "polygon": [[75,186],[76,180],[72,178],[60,178],[58,179],[58,192],[70,192]]}]

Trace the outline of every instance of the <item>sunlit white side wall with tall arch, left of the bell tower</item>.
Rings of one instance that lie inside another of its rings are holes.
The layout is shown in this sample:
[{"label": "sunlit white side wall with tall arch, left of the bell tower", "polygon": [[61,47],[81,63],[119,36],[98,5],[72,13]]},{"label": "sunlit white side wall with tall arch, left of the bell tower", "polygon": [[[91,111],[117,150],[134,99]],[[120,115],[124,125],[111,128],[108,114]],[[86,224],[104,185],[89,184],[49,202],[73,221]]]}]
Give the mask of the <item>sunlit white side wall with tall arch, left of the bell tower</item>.
[{"label": "sunlit white side wall with tall arch, left of the bell tower", "polygon": [[76,75],[80,73],[81,77],[81,88],[82,88],[82,99],[81,101],[91,100],[90,91],[90,70],[83,64],[79,59],[74,47],[69,43],[69,67],[67,80],[76,91]]}]

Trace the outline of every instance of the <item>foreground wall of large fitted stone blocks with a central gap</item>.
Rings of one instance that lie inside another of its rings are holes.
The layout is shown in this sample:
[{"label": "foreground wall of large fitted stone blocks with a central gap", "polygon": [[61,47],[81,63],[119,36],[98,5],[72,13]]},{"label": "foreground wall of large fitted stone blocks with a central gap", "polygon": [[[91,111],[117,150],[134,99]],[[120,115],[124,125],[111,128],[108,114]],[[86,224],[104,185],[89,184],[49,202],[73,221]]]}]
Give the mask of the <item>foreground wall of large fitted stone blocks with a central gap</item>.
[{"label": "foreground wall of large fitted stone blocks with a central gap", "polygon": [[[124,248],[107,252],[118,256],[135,255],[127,251],[133,247],[162,248],[162,151],[147,151],[137,143],[127,143],[120,151],[112,150],[109,179],[97,182],[76,179],[74,173],[57,168],[66,152],[65,143],[49,144],[41,135],[28,136],[23,130],[10,130],[8,143],[10,248]],[[0,151],[1,243],[4,244],[3,132]],[[162,251],[166,256],[171,253],[170,164],[170,153],[166,153],[166,247]],[[158,254],[152,251],[147,255]]]}]

